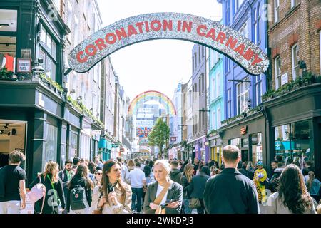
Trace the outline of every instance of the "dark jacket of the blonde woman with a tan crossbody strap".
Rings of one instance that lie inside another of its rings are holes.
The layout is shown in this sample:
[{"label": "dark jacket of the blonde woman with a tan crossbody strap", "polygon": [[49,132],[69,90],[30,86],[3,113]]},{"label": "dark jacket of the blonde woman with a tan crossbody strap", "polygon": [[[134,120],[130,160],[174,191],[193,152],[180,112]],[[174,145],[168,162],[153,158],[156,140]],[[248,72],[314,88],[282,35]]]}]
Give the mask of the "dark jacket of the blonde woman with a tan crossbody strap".
[{"label": "dark jacket of the blonde woman with a tan crossbody strap", "polygon": [[[144,212],[145,214],[155,214],[155,210],[149,207],[151,202],[154,202],[156,199],[156,193],[158,188],[158,182],[153,182],[151,185],[148,185],[148,189],[144,198]],[[176,209],[166,208],[166,214],[180,214],[183,203],[183,187],[182,185],[173,182],[170,187],[168,187],[168,193],[166,199],[176,199],[180,205]]]}]

